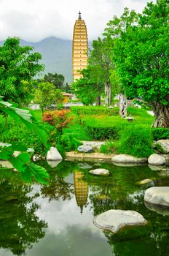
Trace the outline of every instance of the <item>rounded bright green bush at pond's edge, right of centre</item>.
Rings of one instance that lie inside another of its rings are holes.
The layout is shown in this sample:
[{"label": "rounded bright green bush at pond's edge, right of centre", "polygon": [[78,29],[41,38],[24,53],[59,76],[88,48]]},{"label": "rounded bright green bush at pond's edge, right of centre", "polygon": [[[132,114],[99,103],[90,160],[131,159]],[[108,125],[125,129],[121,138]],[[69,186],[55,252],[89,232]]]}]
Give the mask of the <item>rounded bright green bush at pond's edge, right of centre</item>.
[{"label": "rounded bright green bush at pond's edge, right of centre", "polygon": [[125,127],[117,145],[117,153],[149,157],[153,153],[151,130],[138,125]]}]

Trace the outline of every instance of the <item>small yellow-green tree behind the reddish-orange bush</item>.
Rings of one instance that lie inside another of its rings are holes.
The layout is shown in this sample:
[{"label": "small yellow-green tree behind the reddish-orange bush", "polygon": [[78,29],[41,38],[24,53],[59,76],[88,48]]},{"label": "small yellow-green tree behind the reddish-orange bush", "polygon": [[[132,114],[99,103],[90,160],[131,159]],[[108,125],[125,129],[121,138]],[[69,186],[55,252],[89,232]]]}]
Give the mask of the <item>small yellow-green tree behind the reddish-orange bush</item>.
[{"label": "small yellow-green tree behind the reddish-orange bush", "polygon": [[44,109],[50,108],[52,104],[63,102],[63,94],[59,89],[49,82],[38,83],[35,90],[34,103],[39,104],[42,113]]}]

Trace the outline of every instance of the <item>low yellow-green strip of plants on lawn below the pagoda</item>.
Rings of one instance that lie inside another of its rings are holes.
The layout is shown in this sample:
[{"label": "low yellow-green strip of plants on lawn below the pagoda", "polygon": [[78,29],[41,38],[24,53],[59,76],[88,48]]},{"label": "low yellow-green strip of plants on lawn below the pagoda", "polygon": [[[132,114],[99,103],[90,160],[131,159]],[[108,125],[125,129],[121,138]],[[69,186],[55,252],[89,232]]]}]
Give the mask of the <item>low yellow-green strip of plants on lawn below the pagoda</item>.
[{"label": "low yellow-green strip of plants on lawn below the pagoda", "polygon": [[78,116],[118,116],[119,108],[106,108],[106,107],[98,107],[98,106],[87,106],[87,107],[71,107],[71,111],[76,113]]}]

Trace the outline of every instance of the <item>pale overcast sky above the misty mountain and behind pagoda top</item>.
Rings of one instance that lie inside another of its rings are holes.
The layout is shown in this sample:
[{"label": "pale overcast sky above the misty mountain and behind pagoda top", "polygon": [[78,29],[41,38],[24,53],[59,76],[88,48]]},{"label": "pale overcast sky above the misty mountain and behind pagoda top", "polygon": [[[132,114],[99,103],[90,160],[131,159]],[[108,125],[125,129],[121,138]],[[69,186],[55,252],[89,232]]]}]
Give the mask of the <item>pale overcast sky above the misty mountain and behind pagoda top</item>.
[{"label": "pale overcast sky above the misty mountain and behind pagoda top", "polygon": [[[155,0],[153,0],[155,1]],[[141,12],[148,0],[0,0],[0,40],[20,37],[37,42],[45,37],[72,39],[79,10],[90,40],[124,7]]]}]

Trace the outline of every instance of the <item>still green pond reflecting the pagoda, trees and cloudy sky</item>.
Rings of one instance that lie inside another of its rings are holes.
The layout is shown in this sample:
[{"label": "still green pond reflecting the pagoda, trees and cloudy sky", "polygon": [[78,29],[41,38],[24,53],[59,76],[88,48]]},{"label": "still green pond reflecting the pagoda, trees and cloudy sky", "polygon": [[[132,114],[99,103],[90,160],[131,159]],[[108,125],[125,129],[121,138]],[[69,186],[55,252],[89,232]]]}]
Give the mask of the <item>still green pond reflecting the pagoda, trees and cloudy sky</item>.
[{"label": "still green pond reflecting the pagoda, trees and cloudy sky", "polygon": [[[9,170],[0,174],[0,255],[143,256],[169,254],[169,209],[148,208],[144,192],[169,186],[169,170],[117,166],[103,162],[63,161],[56,167],[39,162],[50,173],[48,185],[26,184]],[[92,168],[110,176],[93,176]],[[139,185],[146,178],[152,183]],[[138,211],[148,225],[116,235],[98,229],[93,217],[109,209]]]}]

